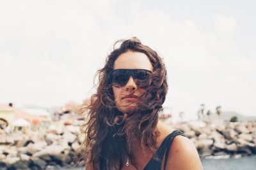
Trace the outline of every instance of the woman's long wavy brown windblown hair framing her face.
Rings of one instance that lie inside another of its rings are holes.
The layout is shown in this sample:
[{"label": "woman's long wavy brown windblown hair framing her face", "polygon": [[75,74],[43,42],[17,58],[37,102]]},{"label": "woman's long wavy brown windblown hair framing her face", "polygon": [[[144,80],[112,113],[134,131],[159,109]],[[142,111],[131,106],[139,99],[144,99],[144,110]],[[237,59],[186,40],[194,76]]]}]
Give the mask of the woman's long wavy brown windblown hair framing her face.
[{"label": "woman's long wavy brown windblown hair framing her face", "polygon": [[[136,109],[127,114],[116,108],[108,76],[113,71],[115,60],[129,50],[145,53],[153,66],[153,73],[147,82],[136,82],[139,87],[147,89],[147,92],[138,100]],[[97,93],[91,97],[89,106],[84,105],[81,108],[88,115],[86,124],[81,127],[85,136],[84,154],[89,155],[86,163],[92,163],[93,169],[121,169],[129,157],[131,163],[137,167],[131,152],[135,139],[140,141],[141,146],[150,148],[152,153],[157,149],[157,112],[162,108],[168,90],[163,60],[138,38],[119,40],[108,55],[105,66],[95,74],[94,81],[97,76]]]}]

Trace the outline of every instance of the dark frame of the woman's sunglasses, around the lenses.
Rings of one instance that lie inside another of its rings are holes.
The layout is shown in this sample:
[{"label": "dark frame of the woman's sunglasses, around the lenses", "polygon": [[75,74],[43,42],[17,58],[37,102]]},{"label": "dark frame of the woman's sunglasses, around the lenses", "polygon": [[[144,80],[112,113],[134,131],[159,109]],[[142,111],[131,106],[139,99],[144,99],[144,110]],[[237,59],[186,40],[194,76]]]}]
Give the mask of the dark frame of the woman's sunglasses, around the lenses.
[{"label": "dark frame of the woman's sunglasses, around the lenses", "polygon": [[[127,81],[124,82],[124,85],[129,81],[129,78],[130,76],[132,76],[132,78],[134,79],[134,81],[136,80],[140,80],[138,78],[134,78],[134,72],[135,71],[145,71],[145,73],[149,73],[149,74],[152,74],[152,71],[148,70],[148,69],[113,69],[110,73],[109,73],[109,76],[108,76],[108,80],[109,80],[109,83],[113,83],[113,77],[112,77],[112,74],[113,72],[115,71],[126,71],[128,73],[128,78],[127,78]],[[116,87],[123,87],[124,85],[114,85]]]}]

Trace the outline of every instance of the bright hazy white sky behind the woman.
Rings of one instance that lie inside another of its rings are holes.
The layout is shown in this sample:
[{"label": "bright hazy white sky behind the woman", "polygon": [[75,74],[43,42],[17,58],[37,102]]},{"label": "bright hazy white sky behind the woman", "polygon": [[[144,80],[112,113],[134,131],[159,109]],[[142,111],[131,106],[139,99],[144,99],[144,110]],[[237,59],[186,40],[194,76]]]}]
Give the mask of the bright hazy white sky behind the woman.
[{"label": "bright hazy white sky behind the woman", "polygon": [[256,114],[256,1],[0,1],[0,104],[63,106],[95,92],[118,39],[138,37],[168,71],[164,103]]}]

